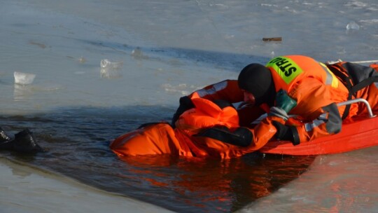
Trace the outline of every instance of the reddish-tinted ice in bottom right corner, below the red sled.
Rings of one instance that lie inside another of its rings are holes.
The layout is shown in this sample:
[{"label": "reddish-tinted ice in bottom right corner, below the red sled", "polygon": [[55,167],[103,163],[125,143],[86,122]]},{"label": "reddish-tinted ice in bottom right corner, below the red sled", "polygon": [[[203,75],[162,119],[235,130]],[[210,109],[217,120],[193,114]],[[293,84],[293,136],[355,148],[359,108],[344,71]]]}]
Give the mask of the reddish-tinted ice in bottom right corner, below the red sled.
[{"label": "reddish-tinted ice in bottom right corner, below the red sled", "polygon": [[318,156],[311,169],[243,212],[377,212],[378,146]]}]

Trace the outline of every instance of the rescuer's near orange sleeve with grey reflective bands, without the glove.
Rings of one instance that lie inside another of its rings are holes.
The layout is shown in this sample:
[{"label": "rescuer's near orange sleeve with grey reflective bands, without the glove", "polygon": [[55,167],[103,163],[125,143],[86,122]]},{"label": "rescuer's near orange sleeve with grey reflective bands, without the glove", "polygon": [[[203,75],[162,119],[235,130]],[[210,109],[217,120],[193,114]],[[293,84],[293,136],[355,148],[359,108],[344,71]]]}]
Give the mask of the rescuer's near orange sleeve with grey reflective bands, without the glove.
[{"label": "rescuer's near orange sleeve with grey reflective bands, without the glove", "polygon": [[294,144],[333,135],[341,130],[340,114],[344,107],[338,108],[336,103],[345,101],[347,93],[314,78],[305,78],[288,95],[297,100],[297,107],[290,114],[304,118],[304,125],[297,125],[297,132],[293,132],[294,139],[297,139]]}]

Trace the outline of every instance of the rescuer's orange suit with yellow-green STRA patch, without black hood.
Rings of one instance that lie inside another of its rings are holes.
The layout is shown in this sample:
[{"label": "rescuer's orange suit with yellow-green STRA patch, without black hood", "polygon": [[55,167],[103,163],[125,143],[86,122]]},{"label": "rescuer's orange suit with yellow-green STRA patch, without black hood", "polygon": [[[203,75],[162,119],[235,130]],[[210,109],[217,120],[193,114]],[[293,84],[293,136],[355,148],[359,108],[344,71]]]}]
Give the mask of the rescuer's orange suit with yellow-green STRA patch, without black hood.
[{"label": "rescuer's orange suit with yellow-green STRA patch, without black hood", "polygon": [[[377,68],[372,69],[374,65],[371,67],[356,64],[346,66],[344,62],[341,62],[333,64],[333,66],[338,69],[348,70],[349,75],[364,71],[365,76],[359,76],[356,83],[363,81],[365,78],[378,75],[377,71],[374,71]],[[339,132],[342,128],[340,114],[344,114],[345,106],[337,107],[336,103],[350,99],[351,92],[355,92],[352,95],[353,97],[367,99],[373,110],[378,109],[377,83],[371,82],[370,85],[366,85],[358,91],[352,91],[347,85],[344,85],[344,81],[341,81],[340,76],[336,76],[329,69],[330,65],[317,62],[311,57],[302,55],[276,57],[269,61],[266,67],[272,74],[276,92],[285,90],[288,96],[297,102],[297,106],[290,110],[290,114],[297,115],[296,120],[299,122],[293,123],[293,119],[285,121],[268,114],[267,118],[262,119],[258,125],[251,128],[253,139],[251,144],[244,148],[244,151],[254,151],[264,146],[277,131],[273,125],[274,121],[290,126],[293,131],[293,144],[309,142],[312,139]],[[243,102],[244,100],[243,92],[235,80],[209,85],[202,90],[195,91],[193,94],[200,95],[205,99],[225,99],[233,103]],[[259,107],[269,112],[269,107],[273,106],[262,104]],[[348,108],[345,118],[351,118],[366,111],[362,104],[357,103],[351,104]],[[241,125],[247,125],[253,121],[259,115],[256,114],[257,112],[262,114],[262,111],[256,109],[256,107],[245,107],[239,110]]]}]

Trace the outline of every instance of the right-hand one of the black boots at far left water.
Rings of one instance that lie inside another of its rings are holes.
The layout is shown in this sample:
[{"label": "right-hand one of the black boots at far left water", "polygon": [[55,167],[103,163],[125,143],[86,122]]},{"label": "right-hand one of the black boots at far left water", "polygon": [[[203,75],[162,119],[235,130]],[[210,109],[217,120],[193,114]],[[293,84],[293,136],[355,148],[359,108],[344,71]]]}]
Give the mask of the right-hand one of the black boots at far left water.
[{"label": "right-hand one of the black boots at far left water", "polygon": [[13,139],[11,143],[13,145],[13,151],[23,153],[36,153],[43,151],[41,146],[37,144],[33,132],[30,132],[29,129],[22,130],[15,134],[15,139]]}]

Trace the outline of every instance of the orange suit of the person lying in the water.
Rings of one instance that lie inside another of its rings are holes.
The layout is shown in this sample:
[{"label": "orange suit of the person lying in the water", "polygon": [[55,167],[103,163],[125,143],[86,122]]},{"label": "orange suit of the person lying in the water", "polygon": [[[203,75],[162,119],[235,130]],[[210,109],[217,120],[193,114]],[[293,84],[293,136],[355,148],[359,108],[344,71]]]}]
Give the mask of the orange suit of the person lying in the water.
[{"label": "orange suit of the person lying in the water", "polygon": [[[118,156],[145,156],[170,154],[186,157],[233,158],[240,156],[237,151],[241,144],[197,136],[203,129],[223,126],[231,130],[239,128],[239,117],[234,107],[219,105],[193,94],[193,109],[185,111],[176,122],[177,128],[168,123],[142,125],[111,142],[111,149]],[[216,101],[215,101],[216,102]]]}]

